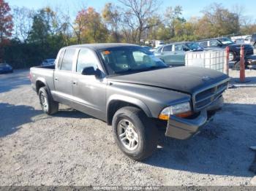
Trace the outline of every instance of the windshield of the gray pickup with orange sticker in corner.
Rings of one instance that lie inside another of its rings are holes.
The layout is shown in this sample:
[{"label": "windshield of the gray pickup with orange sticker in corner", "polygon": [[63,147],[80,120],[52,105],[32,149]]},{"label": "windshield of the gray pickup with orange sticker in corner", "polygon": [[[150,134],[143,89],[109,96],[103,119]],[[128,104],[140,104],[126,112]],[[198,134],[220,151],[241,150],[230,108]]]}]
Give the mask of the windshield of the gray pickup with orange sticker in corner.
[{"label": "windshield of the gray pickup with orange sticker in corner", "polygon": [[143,47],[112,47],[99,51],[110,75],[168,67]]}]

